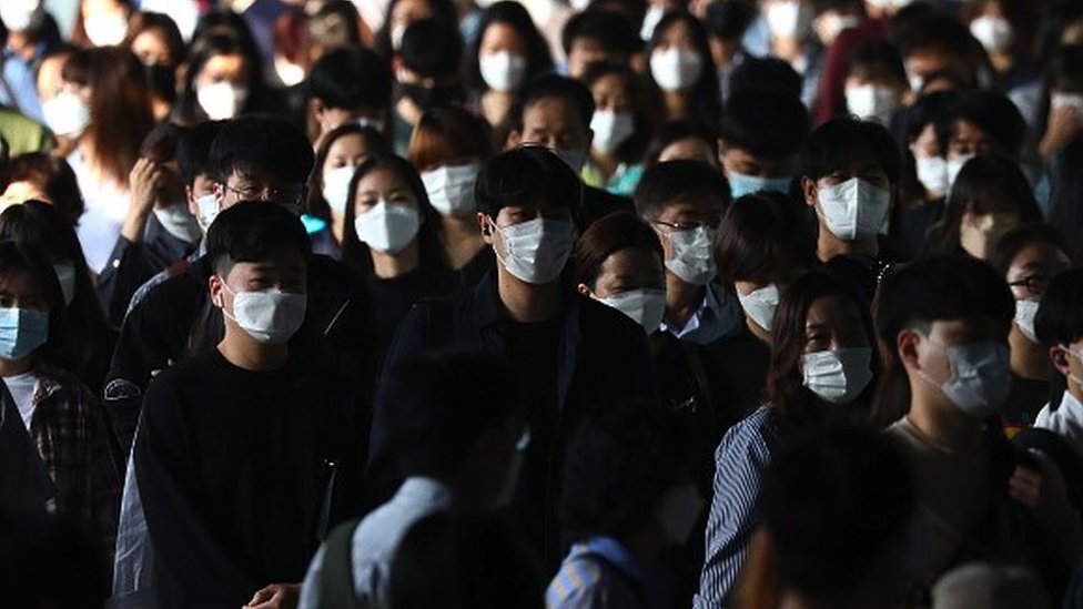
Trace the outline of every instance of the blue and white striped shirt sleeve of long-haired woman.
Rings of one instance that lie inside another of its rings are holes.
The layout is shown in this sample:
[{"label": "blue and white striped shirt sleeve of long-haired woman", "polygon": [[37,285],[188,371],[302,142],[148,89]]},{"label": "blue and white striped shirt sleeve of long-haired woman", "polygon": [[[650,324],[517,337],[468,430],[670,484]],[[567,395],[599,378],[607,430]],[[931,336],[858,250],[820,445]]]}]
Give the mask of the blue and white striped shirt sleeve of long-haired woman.
[{"label": "blue and white striped shirt sleeve of long-haired woman", "polygon": [[715,451],[707,548],[694,609],[726,607],[759,524],[759,495],[779,441],[769,406],[731,427]]}]

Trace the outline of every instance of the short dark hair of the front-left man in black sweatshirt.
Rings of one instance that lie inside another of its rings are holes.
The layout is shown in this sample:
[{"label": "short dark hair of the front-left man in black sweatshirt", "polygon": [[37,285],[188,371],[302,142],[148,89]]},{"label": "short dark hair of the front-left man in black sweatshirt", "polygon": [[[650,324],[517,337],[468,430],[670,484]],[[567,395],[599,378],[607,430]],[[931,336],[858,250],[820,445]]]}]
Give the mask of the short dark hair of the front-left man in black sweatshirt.
[{"label": "short dark hair of the front-left man in black sweatshirt", "polygon": [[297,216],[264,201],[242,201],[214,219],[206,234],[206,255],[214,272],[225,276],[239,262],[267,260],[281,248],[312,255],[312,243]]}]

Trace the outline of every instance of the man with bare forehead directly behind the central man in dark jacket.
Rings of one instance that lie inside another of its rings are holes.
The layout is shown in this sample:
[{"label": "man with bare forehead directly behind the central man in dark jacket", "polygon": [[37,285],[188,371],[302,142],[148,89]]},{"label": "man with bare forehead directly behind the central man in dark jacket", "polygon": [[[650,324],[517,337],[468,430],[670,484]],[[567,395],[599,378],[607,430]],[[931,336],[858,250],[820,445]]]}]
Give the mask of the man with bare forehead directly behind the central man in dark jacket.
[{"label": "man with bare forehead directly behind the central man in dark jacket", "polygon": [[[581,82],[557,74],[538,77],[519,91],[508,114],[505,150],[548,146],[581,176],[594,141],[594,95]],[[579,231],[599,217],[635,209],[628,197],[590,185],[583,187],[580,196],[575,217]]]}]

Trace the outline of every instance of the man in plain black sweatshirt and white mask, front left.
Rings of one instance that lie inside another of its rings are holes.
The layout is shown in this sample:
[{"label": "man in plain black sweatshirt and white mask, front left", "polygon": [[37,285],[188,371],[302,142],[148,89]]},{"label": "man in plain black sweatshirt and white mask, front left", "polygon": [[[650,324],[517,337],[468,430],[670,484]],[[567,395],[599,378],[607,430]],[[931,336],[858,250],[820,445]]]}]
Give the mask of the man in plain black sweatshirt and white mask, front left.
[{"label": "man in plain black sweatshirt and white mask, front left", "polygon": [[132,451],[161,607],[296,599],[317,540],[360,510],[364,399],[291,346],[310,256],[296,217],[257,202],[208,235],[224,334],[150,385]]}]

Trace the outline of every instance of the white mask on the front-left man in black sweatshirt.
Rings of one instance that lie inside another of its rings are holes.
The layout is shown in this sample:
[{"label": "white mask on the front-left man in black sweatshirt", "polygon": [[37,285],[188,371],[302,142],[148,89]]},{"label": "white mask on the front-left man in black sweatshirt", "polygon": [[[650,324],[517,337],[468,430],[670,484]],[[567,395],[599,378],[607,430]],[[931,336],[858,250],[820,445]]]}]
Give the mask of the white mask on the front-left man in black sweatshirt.
[{"label": "white mask on the front-left man in black sweatshirt", "polygon": [[256,292],[234,292],[222,280],[222,287],[233,294],[233,314],[222,315],[239,325],[256,343],[281,345],[287,342],[304,323],[307,300],[304,294],[282,292],[277,288]]}]

